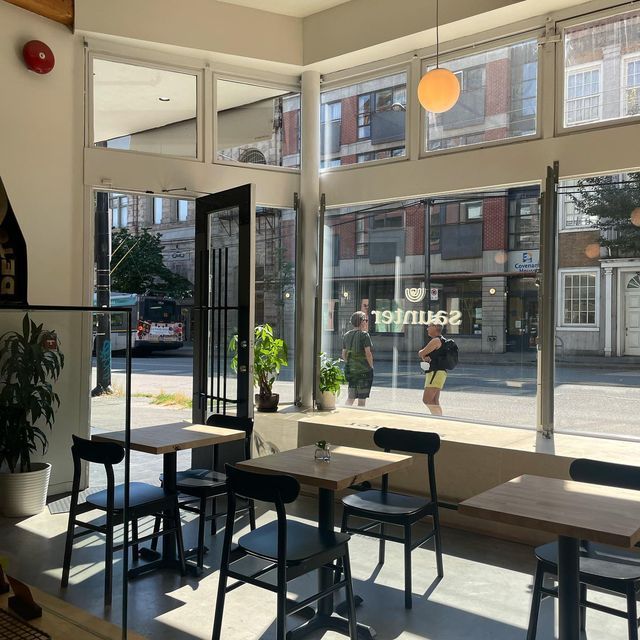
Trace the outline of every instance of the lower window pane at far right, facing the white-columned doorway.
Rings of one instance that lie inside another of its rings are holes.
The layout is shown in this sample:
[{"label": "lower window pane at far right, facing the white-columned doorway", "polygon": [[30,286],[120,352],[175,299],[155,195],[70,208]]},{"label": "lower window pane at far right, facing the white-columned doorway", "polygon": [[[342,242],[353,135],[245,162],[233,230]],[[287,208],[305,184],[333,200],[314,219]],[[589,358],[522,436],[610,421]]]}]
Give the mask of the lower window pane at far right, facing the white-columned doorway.
[{"label": "lower window pane at far right, facing the white-columned doorway", "polygon": [[558,195],[556,429],[640,437],[640,173]]}]

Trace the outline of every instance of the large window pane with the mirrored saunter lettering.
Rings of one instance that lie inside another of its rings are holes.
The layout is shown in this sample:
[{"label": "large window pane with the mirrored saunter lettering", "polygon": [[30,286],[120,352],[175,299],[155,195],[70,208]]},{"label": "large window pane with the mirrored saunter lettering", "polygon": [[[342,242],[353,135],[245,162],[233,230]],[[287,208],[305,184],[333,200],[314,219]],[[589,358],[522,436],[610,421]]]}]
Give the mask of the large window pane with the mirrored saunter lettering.
[{"label": "large window pane with the mirrored saunter lettering", "polygon": [[[437,319],[459,349],[443,414],[534,427],[537,198],[537,188],[525,188],[327,211],[322,350],[340,356],[345,340],[352,345],[344,336],[354,314],[368,320],[374,367],[365,407],[428,411],[418,351]],[[509,246],[518,217],[536,219],[519,225],[526,250]],[[345,387],[342,402],[347,395]]]}]

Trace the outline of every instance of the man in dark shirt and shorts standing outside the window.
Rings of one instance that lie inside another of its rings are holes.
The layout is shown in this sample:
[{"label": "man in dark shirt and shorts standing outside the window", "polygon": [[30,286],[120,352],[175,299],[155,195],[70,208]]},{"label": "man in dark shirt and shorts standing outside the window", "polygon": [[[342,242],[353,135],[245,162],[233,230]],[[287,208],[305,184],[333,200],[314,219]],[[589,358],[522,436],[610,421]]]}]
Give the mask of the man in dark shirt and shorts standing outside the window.
[{"label": "man in dark shirt and shorts standing outside the window", "polygon": [[342,359],[344,377],[349,383],[347,406],[358,400],[358,406],[364,407],[373,384],[373,344],[368,333],[369,319],[363,311],[351,316],[353,329],[342,337]]}]

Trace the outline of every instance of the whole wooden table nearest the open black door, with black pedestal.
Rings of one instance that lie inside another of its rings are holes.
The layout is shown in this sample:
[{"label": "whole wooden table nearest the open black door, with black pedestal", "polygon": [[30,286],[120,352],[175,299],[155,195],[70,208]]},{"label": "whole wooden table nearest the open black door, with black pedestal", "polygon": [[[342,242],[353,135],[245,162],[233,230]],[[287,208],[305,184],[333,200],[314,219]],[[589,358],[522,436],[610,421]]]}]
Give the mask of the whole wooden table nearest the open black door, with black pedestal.
[{"label": "whole wooden table nearest the open black door, with black pedestal", "polygon": [[[245,436],[245,432],[238,429],[176,422],[131,429],[129,442],[132,451],[141,451],[156,456],[162,455],[163,486],[168,492],[175,493],[177,491],[176,474],[178,451],[224,444],[225,442],[234,442],[244,439]],[[115,442],[116,444],[124,446],[125,432],[109,431],[107,433],[96,433],[91,439],[96,442]],[[153,552],[149,549],[145,551],[148,557],[152,557]],[[163,536],[161,560],[136,567],[132,570],[131,575],[133,577],[141,573],[146,573],[147,571],[157,568],[159,565],[163,567],[177,566],[176,539],[173,533]]]}]

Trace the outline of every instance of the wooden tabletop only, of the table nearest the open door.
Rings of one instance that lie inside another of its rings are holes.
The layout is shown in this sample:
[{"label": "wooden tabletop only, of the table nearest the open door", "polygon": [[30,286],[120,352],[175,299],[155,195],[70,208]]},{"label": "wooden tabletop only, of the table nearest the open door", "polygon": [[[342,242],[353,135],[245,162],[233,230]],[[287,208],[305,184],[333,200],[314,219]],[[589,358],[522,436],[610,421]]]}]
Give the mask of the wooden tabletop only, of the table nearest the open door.
[{"label": "wooden tabletop only, of the table nearest the open door", "polygon": [[[206,424],[176,422],[154,427],[131,429],[131,449],[161,455],[184,449],[197,449],[212,444],[242,440],[245,432],[238,429],[212,427]],[[124,445],[124,431],[96,433],[91,437],[96,442],[115,442]]]}]

